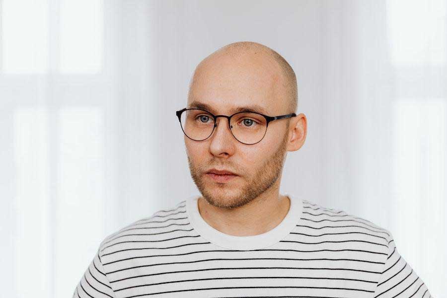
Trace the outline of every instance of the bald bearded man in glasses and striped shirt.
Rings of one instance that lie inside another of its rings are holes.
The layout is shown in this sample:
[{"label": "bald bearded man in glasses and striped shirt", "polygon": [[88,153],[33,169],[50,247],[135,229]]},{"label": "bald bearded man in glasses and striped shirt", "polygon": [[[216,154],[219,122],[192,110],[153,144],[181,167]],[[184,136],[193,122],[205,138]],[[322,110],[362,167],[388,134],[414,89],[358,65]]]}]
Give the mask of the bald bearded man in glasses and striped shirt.
[{"label": "bald bearded man in glasses and striped shirt", "polygon": [[306,137],[297,99],[294,71],[266,46],[204,59],[176,112],[201,196],[106,237],[74,297],[429,298],[388,230],[279,193]]}]

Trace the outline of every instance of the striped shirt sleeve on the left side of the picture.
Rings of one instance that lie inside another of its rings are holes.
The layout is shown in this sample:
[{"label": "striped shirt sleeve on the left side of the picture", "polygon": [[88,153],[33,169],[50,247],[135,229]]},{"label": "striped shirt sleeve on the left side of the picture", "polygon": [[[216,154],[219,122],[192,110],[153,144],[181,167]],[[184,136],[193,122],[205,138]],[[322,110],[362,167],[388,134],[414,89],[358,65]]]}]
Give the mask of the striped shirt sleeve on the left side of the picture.
[{"label": "striped shirt sleeve on the left side of the picture", "polygon": [[102,267],[99,248],[74,289],[73,298],[116,298]]}]

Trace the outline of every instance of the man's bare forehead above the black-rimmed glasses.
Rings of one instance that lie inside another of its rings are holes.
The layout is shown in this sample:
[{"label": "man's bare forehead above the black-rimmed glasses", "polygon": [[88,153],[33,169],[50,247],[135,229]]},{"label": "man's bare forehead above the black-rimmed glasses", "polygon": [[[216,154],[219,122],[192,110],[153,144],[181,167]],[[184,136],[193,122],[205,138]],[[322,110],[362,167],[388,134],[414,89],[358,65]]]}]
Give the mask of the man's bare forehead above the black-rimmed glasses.
[{"label": "man's bare forehead above the black-rimmed glasses", "polygon": [[269,59],[219,57],[197,68],[188,93],[188,108],[215,115],[242,111],[271,115],[282,110],[281,72]]}]

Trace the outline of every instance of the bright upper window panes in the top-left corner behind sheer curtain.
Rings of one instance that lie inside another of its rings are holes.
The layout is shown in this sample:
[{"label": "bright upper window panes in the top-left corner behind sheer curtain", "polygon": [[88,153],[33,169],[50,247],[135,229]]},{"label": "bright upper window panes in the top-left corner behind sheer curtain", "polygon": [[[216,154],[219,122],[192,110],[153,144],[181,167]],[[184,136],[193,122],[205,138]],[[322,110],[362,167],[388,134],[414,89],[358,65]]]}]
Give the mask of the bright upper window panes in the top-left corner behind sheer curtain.
[{"label": "bright upper window panes in the top-left corner behind sheer curtain", "polygon": [[[58,4],[50,7],[48,0],[2,1],[5,74],[102,71],[103,1],[63,0]],[[49,59],[49,55],[58,55],[59,59]]]}]

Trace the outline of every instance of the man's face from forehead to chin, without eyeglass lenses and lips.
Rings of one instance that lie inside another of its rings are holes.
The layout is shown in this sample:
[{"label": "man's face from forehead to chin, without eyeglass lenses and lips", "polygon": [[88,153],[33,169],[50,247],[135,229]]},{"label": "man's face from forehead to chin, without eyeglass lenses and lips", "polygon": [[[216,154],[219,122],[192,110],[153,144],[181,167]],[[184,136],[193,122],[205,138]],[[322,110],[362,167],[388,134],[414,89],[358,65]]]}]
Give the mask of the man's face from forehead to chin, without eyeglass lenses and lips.
[{"label": "man's face from forehead to chin, without eyeglass lenses and lips", "polygon": [[[260,53],[237,58],[216,55],[197,68],[188,106],[199,101],[213,107],[215,115],[229,116],[234,108],[257,104],[269,116],[288,114],[283,81],[279,66]],[[222,117],[208,139],[193,141],[184,136],[191,176],[204,199],[215,207],[232,209],[278,189],[287,152],[287,122],[270,122],[262,141],[254,145],[238,142]],[[238,176],[219,183],[206,174],[212,168]]]}]

